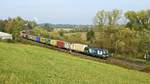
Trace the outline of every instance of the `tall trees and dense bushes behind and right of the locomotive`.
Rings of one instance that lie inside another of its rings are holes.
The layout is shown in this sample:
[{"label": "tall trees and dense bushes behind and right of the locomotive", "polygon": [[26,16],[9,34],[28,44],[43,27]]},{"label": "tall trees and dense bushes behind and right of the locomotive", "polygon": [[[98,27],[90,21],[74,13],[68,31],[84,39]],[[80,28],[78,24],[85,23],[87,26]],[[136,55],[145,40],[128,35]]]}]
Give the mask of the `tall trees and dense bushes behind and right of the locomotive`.
[{"label": "tall trees and dense bushes behind and right of the locomotive", "polygon": [[142,58],[150,54],[150,10],[98,11],[95,27],[87,33],[89,45],[115,54]]}]

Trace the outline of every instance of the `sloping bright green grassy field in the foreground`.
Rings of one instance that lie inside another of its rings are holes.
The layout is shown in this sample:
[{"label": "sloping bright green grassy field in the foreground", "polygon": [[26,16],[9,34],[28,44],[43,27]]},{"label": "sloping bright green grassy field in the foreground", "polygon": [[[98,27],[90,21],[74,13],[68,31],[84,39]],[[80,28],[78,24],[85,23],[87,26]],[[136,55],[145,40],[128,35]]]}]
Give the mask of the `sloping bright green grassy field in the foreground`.
[{"label": "sloping bright green grassy field in the foreground", "polygon": [[149,78],[54,50],[0,42],[0,84],[150,84]]}]

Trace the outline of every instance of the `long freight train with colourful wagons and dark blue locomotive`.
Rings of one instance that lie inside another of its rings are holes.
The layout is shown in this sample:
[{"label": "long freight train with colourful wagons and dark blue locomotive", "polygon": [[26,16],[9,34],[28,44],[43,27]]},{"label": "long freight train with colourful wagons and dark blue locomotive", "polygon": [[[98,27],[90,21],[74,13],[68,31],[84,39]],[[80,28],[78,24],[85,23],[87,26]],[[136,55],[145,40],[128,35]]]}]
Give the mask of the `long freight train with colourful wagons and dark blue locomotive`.
[{"label": "long freight train with colourful wagons and dark blue locomotive", "polygon": [[29,35],[26,33],[21,33],[21,37],[38,42],[38,43],[43,43],[46,45],[63,48],[68,51],[75,51],[75,52],[83,53],[83,54],[90,55],[93,57],[100,57],[100,58],[110,57],[107,49],[89,47],[88,45],[85,45],[85,44],[70,43],[70,42],[66,42],[62,40],[43,38],[40,36]]}]

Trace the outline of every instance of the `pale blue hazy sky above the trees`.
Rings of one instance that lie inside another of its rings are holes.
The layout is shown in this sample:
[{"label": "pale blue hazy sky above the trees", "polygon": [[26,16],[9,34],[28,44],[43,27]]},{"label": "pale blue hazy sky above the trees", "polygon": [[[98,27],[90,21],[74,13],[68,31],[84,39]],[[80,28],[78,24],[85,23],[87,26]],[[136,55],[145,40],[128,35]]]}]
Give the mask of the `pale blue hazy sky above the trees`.
[{"label": "pale blue hazy sky above the trees", "polygon": [[0,0],[0,19],[21,16],[37,23],[92,24],[99,10],[150,9],[150,0]]}]

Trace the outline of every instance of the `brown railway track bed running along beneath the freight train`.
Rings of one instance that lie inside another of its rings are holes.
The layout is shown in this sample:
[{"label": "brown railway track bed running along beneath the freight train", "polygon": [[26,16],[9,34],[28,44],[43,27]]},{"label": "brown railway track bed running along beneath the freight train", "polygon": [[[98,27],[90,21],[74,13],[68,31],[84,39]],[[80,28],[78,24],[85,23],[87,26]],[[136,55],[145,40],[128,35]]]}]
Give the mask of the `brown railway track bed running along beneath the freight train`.
[{"label": "brown railway track bed running along beneath the freight train", "polygon": [[71,54],[73,56],[80,57],[80,58],[83,58],[83,59],[89,59],[89,60],[94,60],[94,61],[101,62],[101,63],[117,65],[117,66],[127,68],[127,69],[131,69],[131,70],[150,72],[150,67],[146,67],[143,64],[137,64],[137,63],[134,63],[134,62],[130,62],[128,60],[118,59],[118,58],[114,58],[114,57],[110,57],[110,58],[106,58],[106,59],[91,57],[91,56],[84,55],[84,54],[79,53],[79,52],[74,52],[74,51],[72,52],[72,51],[69,51],[69,50],[66,50],[66,49],[62,49],[62,48],[58,48],[58,47],[54,47],[54,46],[50,46],[50,45],[46,45],[46,44],[42,44],[42,43],[37,43],[35,41],[27,40],[27,39],[24,39],[24,38],[22,38],[22,43],[38,45],[38,46],[41,46],[41,47],[45,47],[45,48],[65,52],[65,53],[68,53],[68,54]]}]

